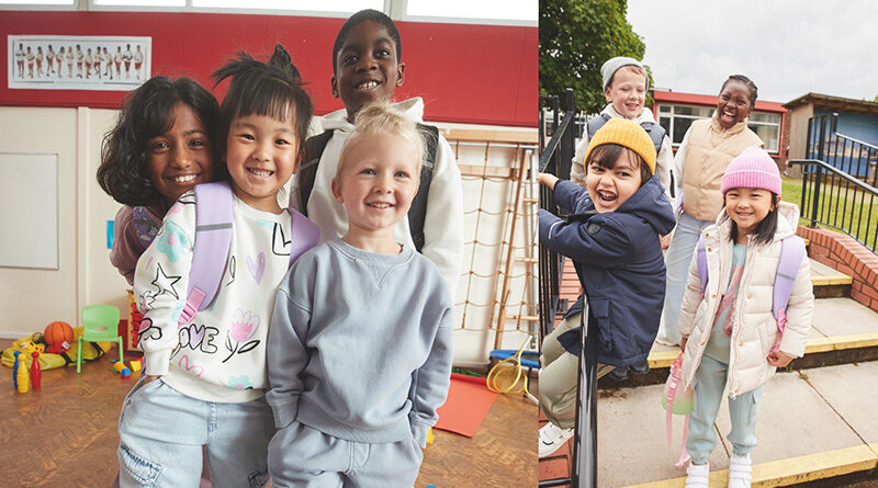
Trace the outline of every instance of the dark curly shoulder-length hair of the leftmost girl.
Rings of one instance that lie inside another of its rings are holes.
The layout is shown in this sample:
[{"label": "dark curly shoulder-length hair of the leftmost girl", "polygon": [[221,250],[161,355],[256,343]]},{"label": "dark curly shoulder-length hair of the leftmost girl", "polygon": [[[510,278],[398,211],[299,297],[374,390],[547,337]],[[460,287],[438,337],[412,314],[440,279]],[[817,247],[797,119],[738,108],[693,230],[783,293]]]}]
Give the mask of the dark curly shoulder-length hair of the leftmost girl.
[{"label": "dark curly shoulder-length hair of the leftmost girl", "polygon": [[216,141],[219,104],[210,91],[191,78],[149,79],[125,97],[115,127],[103,138],[98,183],[116,202],[147,206],[165,201],[149,180],[146,144],[173,126],[178,103],[189,105]]}]

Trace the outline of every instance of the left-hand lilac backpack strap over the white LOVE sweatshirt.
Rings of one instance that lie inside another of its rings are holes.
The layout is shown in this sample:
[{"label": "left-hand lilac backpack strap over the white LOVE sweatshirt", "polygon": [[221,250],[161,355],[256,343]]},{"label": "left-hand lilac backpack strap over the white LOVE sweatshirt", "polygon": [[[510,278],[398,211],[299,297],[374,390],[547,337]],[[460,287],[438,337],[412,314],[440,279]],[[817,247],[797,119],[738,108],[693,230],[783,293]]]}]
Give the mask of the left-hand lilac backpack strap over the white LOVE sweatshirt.
[{"label": "left-hand lilac backpack strap over the white LOVE sweatshirt", "polygon": [[207,308],[225,272],[217,262],[232,247],[232,188],[228,182],[195,185],[195,243],[189,271],[189,293],[178,320],[188,322]]}]

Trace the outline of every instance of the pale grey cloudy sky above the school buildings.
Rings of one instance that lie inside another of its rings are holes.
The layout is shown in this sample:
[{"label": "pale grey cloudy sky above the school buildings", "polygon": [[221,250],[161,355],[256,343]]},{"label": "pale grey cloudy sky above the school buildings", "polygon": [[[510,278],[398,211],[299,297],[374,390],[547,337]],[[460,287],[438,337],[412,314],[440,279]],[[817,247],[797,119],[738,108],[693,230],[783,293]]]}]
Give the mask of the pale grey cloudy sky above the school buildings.
[{"label": "pale grey cloudy sky above the school buildings", "polygon": [[750,77],[759,100],[878,94],[878,1],[628,0],[655,87],[714,94]]}]

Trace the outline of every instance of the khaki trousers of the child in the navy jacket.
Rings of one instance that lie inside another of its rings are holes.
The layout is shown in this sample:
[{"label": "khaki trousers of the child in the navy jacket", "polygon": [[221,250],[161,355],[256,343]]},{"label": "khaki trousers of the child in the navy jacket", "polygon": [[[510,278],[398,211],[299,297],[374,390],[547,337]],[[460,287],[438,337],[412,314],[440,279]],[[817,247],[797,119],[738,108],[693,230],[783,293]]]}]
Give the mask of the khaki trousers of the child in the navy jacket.
[{"label": "khaki trousers of the child in the navy jacket", "polygon": [[[562,333],[579,327],[582,314],[567,317],[545,337],[540,350],[540,407],[545,417],[562,429],[573,427],[576,417],[576,376],[579,358],[571,354],[558,341]],[[616,366],[597,365],[597,377],[603,377]]]}]

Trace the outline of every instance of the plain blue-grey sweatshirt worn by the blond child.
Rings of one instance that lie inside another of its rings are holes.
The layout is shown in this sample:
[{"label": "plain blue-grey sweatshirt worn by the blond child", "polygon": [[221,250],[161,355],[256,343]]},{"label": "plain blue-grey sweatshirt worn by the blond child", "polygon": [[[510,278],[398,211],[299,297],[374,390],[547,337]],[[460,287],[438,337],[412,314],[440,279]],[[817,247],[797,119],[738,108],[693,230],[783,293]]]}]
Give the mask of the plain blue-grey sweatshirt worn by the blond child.
[{"label": "plain blue-grey sweatshirt worn by the blond child", "polygon": [[405,247],[344,240],[303,254],[281,283],[268,343],[274,423],[356,442],[426,446],[451,374],[453,311],[442,275]]}]

